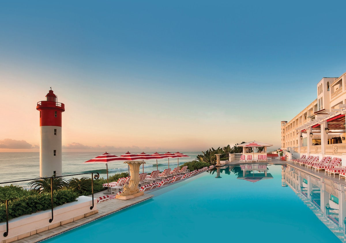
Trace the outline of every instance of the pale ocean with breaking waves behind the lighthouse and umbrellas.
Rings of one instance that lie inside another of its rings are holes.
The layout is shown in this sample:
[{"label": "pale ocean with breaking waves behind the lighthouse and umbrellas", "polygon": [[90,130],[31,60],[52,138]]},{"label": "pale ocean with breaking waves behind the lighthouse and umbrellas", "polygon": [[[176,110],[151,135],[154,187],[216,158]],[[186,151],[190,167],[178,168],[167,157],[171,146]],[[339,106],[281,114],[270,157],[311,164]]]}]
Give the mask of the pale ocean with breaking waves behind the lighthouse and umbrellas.
[{"label": "pale ocean with breaking waves behind the lighthouse and umbrellas", "polygon": [[[125,154],[124,152],[109,152],[115,155]],[[142,153],[132,152],[134,154]],[[154,152],[146,152],[148,154],[153,154]],[[159,152],[160,153],[160,152]],[[165,153],[165,152],[161,152]],[[179,158],[179,165],[185,162],[192,161],[196,159],[199,152],[182,152],[183,154],[189,155],[190,157]],[[101,155],[101,152],[63,152],[62,153],[62,173],[67,175],[66,180],[71,179],[68,175],[88,173],[88,172],[99,172],[100,178],[107,178],[106,164],[103,163],[88,163],[83,164],[83,162],[93,159],[94,157]],[[0,182],[7,181],[19,181],[35,179],[40,175],[40,154],[39,152],[1,152],[0,153]],[[144,160],[144,172],[150,173],[156,170],[156,160]],[[177,158],[169,158],[170,168],[175,168],[177,166]],[[163,171],[168,168],[168,158],[158,159],[158,170]],[[140,167],[140,173],[142,173],[142,166]],[[108,176],[114,175],[121,172],[128,172],[127,164],[123,161],[115,161],[108,163]],[[90,175],[77,175],[74,177],[90,177]],[[14,185],[21,186],[23,188],[28,188],[28,182],[16,182],[12,183]],[[1,184],[0,186],[9,185]]]}]

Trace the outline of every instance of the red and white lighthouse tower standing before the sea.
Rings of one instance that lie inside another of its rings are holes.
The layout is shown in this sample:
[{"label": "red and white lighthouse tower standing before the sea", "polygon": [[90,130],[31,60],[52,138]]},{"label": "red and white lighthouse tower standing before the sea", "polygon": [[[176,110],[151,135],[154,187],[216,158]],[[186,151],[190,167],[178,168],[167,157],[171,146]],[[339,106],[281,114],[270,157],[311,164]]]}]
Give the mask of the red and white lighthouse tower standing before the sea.
[{"label": "red and white lighthouse tower standing before the sea", "polygon": [[40,112],[40,177],[62,175],[61,115],[65,105],[57,102],[51,88],[46,100],[37,102]]}]

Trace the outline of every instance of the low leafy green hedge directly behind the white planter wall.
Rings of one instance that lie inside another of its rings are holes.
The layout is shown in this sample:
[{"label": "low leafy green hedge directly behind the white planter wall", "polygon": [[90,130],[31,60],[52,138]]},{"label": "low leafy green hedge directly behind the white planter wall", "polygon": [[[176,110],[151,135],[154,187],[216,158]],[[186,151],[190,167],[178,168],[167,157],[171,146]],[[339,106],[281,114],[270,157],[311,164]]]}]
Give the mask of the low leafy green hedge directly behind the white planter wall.
[{"label": "low leafy green hedge directly behind the white planter wall", "polygon": [[[63,205],[66,202],[76,201],[78,193],[72,190],[53,191],[53,206]],[[36,213],[40,210],[50,209],[51,193],[40,193],[35,195],[22,196],[18,199],[9,200],[8,202],[8,218],[16,218],[25,214]],[[6,221],[6,205],[0,203],[0,222]]]}]

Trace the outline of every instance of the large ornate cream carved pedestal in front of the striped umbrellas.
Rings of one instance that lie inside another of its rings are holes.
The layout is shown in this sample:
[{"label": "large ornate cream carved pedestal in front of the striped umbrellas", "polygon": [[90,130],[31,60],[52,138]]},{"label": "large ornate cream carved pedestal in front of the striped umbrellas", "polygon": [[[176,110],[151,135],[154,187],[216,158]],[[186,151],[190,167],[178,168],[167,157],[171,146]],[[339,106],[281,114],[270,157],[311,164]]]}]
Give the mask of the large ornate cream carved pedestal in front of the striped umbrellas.
[{"label": "large ornate cream carved pedestal in front of the striped umbrellas", "polygon": [[122,191],[119,195],[116,196],[117,199],[127,200],[135,197],[142,196],[144,194],[143,191],[139,191],[138,183],[139,183],[139,168],[141,164],[145,164],[144,161],[125,161],[124,163],[129,165],[131,179],[129,185],[124,185],[124,191]]}]

